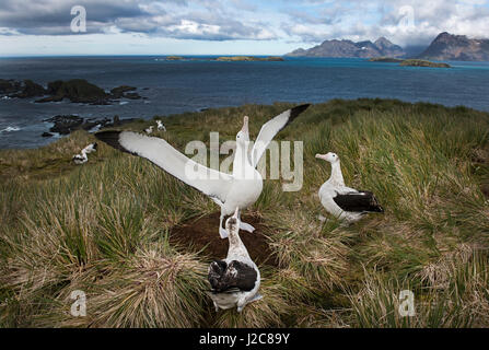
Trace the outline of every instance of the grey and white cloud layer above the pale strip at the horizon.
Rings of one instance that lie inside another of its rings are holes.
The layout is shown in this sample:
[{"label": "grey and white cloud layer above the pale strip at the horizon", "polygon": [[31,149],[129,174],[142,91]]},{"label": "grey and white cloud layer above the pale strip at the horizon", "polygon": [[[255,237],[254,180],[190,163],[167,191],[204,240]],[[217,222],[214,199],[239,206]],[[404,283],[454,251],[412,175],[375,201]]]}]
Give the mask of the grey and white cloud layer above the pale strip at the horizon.
[{"label": "grey and white cloud layer above the pale strip at the horizon", "polygon": [[[271,51],[289,47],[284,43],[293,49],[292,45],[308,47],[333,38],[385,36],[405,46],[427,45],[445,31],[470,37],[489,35],[489,0],[0,1],[0,36],[43,35],[44,39],[72,34],[73,4],[84,5],[88,12],[88,33],[77,37],[101,34],[107,43],[115,36],[139,33],[149,40],[256,40],[257,47],[265,47],[258,42],[267,42]],[[407,21],[409,9],[411,22]]]}]

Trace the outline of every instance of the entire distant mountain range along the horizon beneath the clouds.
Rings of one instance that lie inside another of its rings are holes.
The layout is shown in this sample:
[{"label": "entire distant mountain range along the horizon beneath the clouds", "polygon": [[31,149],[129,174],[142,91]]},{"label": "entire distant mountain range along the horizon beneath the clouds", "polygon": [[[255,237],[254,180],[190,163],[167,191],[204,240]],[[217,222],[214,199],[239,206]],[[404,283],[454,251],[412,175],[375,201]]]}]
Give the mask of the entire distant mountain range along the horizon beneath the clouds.
[{"label": "entire distant mountain range along the horizon beneath the clouds", "polygon": [[489,39],[469,39],[465,35],[441,33],[423,50],[400,46],[381,37],[374,43],[351,40],[325,40],[310,49],[296,49],[286,56],[290,57],[393,57],[420,58],[431,60],[489,61]]}]

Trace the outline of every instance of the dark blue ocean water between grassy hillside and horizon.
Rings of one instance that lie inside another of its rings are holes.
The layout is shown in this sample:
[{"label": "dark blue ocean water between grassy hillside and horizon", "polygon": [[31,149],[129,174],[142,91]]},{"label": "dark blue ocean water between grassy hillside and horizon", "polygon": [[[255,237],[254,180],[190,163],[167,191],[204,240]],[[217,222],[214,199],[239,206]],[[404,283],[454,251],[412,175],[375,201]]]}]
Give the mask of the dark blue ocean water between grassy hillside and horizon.
[{"label": "dark blue ocean water between grassy hillside and horizon", "polygon": [[287,58],[282,62],[166,61],[150,56],[0,58],[1,79],[31,79],[46,85],[58,79],[81,78],[107,91],[123,84],[137,86],[137,92],[147,97],[108,106],[2,98],[0,149],[53,142],[57,137],[40,137],[51,126],[42,120],[60,114],[150,119],[247,103],[321,103],[359,97],[489,110],[489,62],[449,63],[452,69],[328,58]]}]

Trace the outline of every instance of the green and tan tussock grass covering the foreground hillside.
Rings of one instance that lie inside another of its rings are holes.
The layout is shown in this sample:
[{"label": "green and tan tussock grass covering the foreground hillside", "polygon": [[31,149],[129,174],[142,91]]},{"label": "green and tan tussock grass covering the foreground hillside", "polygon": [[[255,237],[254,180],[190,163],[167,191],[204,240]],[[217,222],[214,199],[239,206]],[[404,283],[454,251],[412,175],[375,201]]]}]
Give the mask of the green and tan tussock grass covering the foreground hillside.
[{"label": "green and tan tussock grass covering the foreground hillside", "polygon": [[[291,106],[170,116],[167,132],[155,135],[183,151],[208,143],[210,131],[233,140],[248,115],[253,138]],[[205,293],[209,257],[168,243],[176,225],[219,210],[197,190],[105,144],[72,164],[94,141],[84,131],[0,151],[0,326],[489,326],[488,114],[334,100],[277,139],[304,142],[304,183],[283,192],[281,180],[266,180],[248,210],[263,220],[278,267],[260,266],[264,300],[242,314],[216,314]],[[350,228],[317,220],[329,166],[314,155],[328,151],[339,154],[347,184],[375,192],[384,214]],[[397,312],[405,289],[415,293],[414,317]],[[70,314],[73,290],[86,293],[85,317]]]}]

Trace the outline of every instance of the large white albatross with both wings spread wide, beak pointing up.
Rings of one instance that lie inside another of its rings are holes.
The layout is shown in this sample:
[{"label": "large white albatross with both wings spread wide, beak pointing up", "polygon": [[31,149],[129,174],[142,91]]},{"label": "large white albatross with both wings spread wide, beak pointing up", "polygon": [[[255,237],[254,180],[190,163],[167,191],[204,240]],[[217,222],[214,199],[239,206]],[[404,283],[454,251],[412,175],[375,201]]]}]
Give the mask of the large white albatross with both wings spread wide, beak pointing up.
[{"label": "large white albatross with both wings spread wide, beak pointing up", "polygon": [[[228,237],[222,222],[234,210],[252,206],[261,194],[263,178],[256,166],[273,137],[295,119],[310,105],[288,109],[263,125],[253,149],[249,150],[248,117],[244,117],[243,128],[236,135],[233,174],[225,174],[203,166],[177,150],[165,140],[143,136],[132,131],[101,131],[95,137],[124,152],[148,159],[168,174],[209,196],[221,207],[219,234]],[[255,229],[244,222],[240,229],[253,232]]]}]

